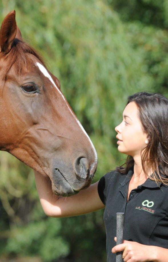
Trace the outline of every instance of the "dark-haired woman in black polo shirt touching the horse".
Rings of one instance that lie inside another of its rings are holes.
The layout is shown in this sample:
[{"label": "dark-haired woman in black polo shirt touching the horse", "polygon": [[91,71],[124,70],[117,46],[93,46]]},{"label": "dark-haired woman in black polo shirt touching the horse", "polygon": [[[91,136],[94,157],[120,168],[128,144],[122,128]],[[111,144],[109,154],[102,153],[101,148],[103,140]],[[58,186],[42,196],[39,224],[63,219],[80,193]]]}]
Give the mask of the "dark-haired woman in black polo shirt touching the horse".
[{"label": "dark-haired woman in black polo shirt touching the horse", "polygon": [[[168,261],[168,99],[140,92],[128,97],[123,121],[115,128],[125,166],[69,198],[53,196],[50,182],[35,172],[45,213],[81,215],[102,209],[107,260],[123,251],[124,261]],[[116,246],[116,212],[125,213],[123,244]]]}]

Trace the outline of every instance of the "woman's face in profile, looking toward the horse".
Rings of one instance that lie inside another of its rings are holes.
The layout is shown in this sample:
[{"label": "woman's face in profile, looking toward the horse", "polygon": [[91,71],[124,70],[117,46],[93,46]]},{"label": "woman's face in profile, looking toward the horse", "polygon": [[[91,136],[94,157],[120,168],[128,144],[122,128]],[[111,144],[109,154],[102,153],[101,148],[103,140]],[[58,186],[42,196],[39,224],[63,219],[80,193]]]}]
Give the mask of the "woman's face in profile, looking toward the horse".
[{"label": "woman's face in profile, looking toward the horse", "polygon": [[123,121],[116,126],[118,150],[130,156],[141,156],[147,134],[143,132],[135,102],[130,102],[123,111]]}]

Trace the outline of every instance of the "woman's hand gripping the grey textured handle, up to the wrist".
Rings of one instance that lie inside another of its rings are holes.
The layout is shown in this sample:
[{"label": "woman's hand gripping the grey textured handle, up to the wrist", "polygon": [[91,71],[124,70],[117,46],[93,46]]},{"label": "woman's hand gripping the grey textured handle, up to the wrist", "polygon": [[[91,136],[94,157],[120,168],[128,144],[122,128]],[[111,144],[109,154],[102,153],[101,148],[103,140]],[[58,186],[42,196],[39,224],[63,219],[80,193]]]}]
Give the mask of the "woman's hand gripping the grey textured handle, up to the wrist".
[{"label": "woman's hand gripping the grey textured handle, up to the wrist", "polygon": [[[117,238],[114,238],[117,241]],[[145,262],[158,261],[155,257],[156,247],[142,245],[133,241],[123,241],[123,244],[116,245],[112,249],[112,253],[123,251],[123,259],[125,262]]]}]

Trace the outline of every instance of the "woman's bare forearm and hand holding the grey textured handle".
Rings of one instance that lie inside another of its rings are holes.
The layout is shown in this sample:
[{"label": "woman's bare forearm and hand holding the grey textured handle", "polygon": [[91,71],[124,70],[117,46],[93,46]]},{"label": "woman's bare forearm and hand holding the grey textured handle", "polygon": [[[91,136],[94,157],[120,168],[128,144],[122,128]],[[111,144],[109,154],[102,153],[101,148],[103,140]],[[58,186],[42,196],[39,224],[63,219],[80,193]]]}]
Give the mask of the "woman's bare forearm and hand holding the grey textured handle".
[{"label": "woman's bare forearm and hand holding the grey textured handle", "polygon": [[168,262],[168,249],[163,247],[142,245],[137,242],[124,240],[123,244],[117,245],[112,249],[112,253],[119,251],[123,251],[125,262]]}]

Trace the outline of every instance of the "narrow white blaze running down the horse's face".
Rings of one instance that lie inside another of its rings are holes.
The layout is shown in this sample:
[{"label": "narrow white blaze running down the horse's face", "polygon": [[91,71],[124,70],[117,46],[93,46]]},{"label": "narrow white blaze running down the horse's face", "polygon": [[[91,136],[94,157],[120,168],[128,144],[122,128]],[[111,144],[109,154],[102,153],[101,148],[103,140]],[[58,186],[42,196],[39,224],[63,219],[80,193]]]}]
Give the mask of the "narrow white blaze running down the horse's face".
[{"label": "narrow white blaze running down the horse's face", "polygon": [[[63,96],[63,94],[61,93],[61,91],[59,90],[59,88],[57,87],[57,85],[55,84],[55,82],[53,81],[51,75],[49,74],[49,72],[47,71],[47,69],[41,65],[40,63],[36,62],[38,68],[40,69],[40,71],[44,74],[44,76],[46,76],[47,78],[49,78],[49,80],[51,81],[51,83],[53,84],[53,86],[55,86],[55,88],[57,89],[57,91],[59,92],[59,94],[62,96],[63,100],[65,101],[65,103],[67,104],[67,101],[65,100],[65,97]],[[79,122],[79,120],[76,118],[75,114],[73,113],[72,109],[69,107],[69,105],[67,104],[67,107],[69,109],[69,111],[71,112],[71,114],[73,115],[73,117],[75,118],[76,122],[78,123],[78,125],[80,126],[80,128],[82,129],[83,133],[87,136],[87,138],[89,139],[89,142],[91,143],[91,146],[93,148],[93,151],[95,153],[95,162],[97,162],[97,153],[95,150],[95,147],[93,146],[93,143],[91,142],[88,134],[86,133],[85,129],[83,128],[83,126],[81,125],[81,123]]]}]

